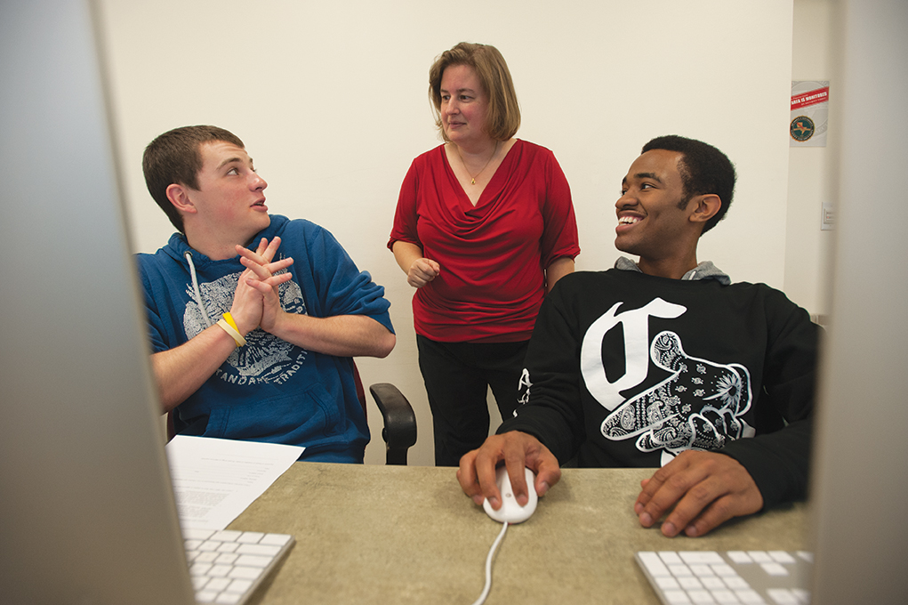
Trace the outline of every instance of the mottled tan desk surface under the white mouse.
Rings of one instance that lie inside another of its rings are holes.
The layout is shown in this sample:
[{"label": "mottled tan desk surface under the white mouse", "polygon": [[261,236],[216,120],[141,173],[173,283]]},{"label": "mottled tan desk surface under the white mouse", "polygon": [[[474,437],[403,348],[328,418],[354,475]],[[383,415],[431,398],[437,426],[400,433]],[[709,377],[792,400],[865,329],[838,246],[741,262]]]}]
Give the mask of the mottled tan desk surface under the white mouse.
[{"label": "mottled tan desk surface under the white mouse", "polygon": [[[252,603],[464,603],[479,597],[501,526],[460,491],[453,469],[297,462],[230,529],[296,544]],[[637,550],[799,550],[804,504],[703,538],[640,527],[652,470],[564,469],[528,521],[508,528],[486,603],[658,603]]]}]

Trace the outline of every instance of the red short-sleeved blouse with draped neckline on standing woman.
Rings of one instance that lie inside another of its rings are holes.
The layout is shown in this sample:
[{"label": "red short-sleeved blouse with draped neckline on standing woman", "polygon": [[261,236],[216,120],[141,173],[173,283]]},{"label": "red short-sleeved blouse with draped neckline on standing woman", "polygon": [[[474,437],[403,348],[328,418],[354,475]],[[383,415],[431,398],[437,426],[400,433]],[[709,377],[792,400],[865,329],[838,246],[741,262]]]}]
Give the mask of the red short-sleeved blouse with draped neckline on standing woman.
[{"label": "red short-sleeved blouse with draped neckline on standing woman", "polygon": [[388,247],[415,243],[441,273],[413,295],[416,332],[439,342],[517,342],[533,331],[543,271],[580,253],[570,187],[555,155],[518,140],[474,207],[444,145],[400,186]]}]

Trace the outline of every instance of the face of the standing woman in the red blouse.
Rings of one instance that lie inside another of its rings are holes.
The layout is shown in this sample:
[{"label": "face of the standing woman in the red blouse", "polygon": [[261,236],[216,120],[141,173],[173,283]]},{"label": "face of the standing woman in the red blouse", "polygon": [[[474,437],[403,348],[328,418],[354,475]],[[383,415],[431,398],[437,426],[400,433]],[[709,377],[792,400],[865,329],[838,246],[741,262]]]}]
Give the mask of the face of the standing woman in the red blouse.
[{"label": "face of the standing woman in the red blouse", "polygon": [[454,144],[489,141],[486,111],[489,95],[469,65],[451,65],[441,74],[441,125]]}]

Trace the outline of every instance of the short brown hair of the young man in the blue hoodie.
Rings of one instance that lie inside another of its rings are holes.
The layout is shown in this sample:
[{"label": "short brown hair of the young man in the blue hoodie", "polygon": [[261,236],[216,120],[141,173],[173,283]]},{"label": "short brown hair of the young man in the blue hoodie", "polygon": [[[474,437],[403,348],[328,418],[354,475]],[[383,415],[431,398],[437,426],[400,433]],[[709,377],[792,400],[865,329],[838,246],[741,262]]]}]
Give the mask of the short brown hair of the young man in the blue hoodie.
[{"label": "short brown hair of the young man in the blue hoodie", "polygon": [[240,137],[217,126],[183,126],[154,139],[145,147],[142,170],[145,185],[154,201],[161,206],[173,226],[183,233],[183,216],[167,199],[167,187],[173,183],[199,189],[202,170],[202,144],[221,141],[246,148]]}]

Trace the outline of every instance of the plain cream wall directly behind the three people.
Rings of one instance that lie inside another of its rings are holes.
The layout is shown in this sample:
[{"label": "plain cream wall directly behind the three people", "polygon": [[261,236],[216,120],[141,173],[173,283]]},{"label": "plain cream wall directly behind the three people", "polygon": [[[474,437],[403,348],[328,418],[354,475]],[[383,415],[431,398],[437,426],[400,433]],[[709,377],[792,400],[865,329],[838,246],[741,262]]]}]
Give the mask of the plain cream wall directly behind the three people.
[{"label": "plain cream wall directly behind the three people", "polygon": [[[385,244],[410,161],[438,144],[429,65],[462,40],[498,46],[523,111],[518,136],[562,164],[579,269],[617,256],[613,203],[640,146],[684,134],[716,144],[739,173],[735,203],[700,258],[735,280],[786,285],[792,0],[100,5],[136,250],[157,249],[173,231],[144,188],[144,145],[185,124],[238,134],[270,183],[272,212],[321,223],[386,286],[398,346],[359,364],[364,382],[394,382],[413,403],[411,463],[432,461],[431,417],[412,292]],[[381,460],[376,416],[370,462]]]}]

